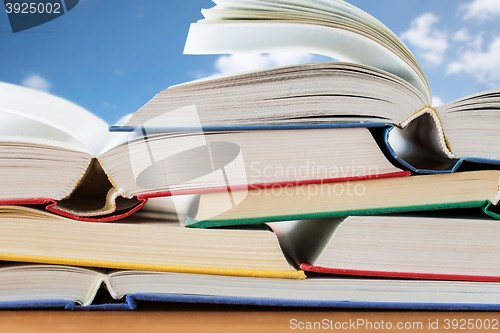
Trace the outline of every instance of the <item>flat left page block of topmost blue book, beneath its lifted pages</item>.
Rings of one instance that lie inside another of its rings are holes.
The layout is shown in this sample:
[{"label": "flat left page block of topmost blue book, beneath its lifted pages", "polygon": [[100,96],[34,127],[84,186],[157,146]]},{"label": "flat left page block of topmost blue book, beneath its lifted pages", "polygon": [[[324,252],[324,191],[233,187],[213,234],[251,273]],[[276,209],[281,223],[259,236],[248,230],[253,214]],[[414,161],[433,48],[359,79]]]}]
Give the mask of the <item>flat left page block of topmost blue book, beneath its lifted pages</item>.
[{"label": "flat left page block of topmost blue book, beneath its lifted pages", "polygon": [[[424,109],[426,99],[408,82],[375,68],[313,63],[173,86],[140,108],[124,126],[182,129],[189,119],[181,111],[190,105],[204,129],[367,122],[399,125]],[[168,117],[174,111],[179,116]]]}]

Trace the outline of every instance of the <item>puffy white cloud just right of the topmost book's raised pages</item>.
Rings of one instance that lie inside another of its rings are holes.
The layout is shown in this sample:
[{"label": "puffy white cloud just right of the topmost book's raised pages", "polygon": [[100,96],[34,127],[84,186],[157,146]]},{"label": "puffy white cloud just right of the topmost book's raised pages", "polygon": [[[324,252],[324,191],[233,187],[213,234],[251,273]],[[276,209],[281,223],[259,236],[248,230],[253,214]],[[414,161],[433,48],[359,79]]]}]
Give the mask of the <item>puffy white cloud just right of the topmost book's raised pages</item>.
[{"label": "puffy white cloud just right of the topmost book's raised pages", "polygon": [[422,14],[411,22],[409,30],[401,34],[401,39],[415,46],[421,57],[436,65],[443,62],[448,48],[446,31],[433,27],[438,21],[439,17],[432,13]]}]

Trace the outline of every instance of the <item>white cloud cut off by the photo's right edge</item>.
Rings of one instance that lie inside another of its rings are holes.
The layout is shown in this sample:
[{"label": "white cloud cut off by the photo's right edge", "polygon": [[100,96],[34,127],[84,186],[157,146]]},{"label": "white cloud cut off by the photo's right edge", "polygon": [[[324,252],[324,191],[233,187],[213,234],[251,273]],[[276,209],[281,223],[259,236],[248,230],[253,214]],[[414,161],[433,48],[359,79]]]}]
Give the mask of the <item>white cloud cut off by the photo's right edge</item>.
[{"label": "white cloud cut off by the photo's right edge", "polygon": [[485,83],[500,81],[500,36],[497,36],[483,51],[482,37],[479,36],[472,47],[464,51],[458,61],[448,65],[448,73],[469,73]]}]

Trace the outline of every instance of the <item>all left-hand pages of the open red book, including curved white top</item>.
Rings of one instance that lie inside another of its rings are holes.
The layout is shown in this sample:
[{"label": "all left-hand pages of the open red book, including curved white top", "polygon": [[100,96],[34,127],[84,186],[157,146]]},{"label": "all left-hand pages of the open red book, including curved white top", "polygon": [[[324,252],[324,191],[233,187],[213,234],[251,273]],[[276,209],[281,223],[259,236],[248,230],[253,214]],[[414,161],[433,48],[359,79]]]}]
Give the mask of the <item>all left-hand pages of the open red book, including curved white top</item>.
[{"label": "all left-hand pages of the open red book, including curved white top", "polygon": [[48,204],[69,197],[107,136],[104,121],[73,103],[0,83],[0,202]]}]

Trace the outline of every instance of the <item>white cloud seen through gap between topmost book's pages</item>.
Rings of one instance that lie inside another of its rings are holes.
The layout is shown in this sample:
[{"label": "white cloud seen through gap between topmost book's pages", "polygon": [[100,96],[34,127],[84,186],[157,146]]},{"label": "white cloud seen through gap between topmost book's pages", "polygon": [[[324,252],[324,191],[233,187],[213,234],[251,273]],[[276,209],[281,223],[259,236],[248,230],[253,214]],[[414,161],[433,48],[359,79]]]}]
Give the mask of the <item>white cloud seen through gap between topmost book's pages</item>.
[{"label": "white cloud seen through gap between topmost book's pages", "polygon": [[220,56],[215,62],[214,75],[229,75],[273,67],[312,62],[314,55],[309,53],[267,53],[231,54]]}]

